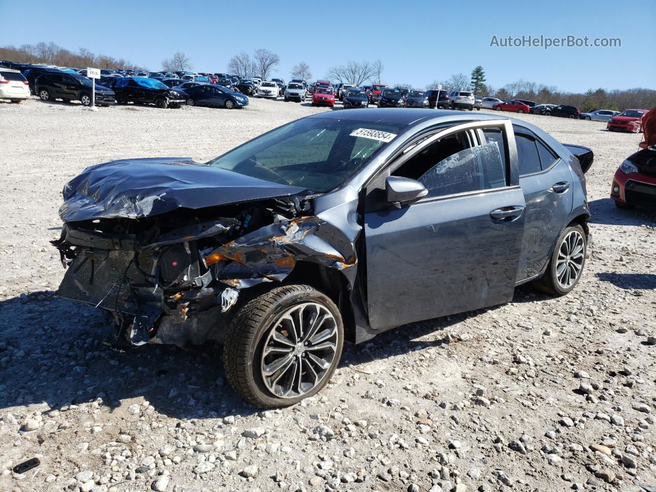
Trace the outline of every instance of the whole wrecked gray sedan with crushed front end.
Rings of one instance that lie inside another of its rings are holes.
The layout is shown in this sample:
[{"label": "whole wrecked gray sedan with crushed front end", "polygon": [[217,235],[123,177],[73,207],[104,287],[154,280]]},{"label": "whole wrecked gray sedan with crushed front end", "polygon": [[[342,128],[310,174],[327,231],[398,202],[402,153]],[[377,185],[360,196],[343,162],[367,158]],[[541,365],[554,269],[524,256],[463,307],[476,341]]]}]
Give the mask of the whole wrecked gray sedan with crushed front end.
[{"label": "whole wrecked gray sedan with crushed front end", "polygon": [[577,285],[592,152],[525,121],[319,113],[207,163],[126,159],[64,187],[58,295],[117,346],[223,344],[245,400],[316,394],[344,341]]}]

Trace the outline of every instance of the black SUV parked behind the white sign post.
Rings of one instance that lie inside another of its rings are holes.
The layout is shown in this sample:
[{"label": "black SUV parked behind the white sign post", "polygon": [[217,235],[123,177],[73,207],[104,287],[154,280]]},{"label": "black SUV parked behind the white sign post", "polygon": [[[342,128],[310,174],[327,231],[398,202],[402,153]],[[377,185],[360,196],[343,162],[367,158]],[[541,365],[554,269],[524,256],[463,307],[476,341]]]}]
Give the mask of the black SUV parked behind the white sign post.
[{"label": "black SUV parked behind the white sign post", "polygon": [[[84,106],[91,104],[91,79],[77,73],[45,72],[36,79],[36,94],[42,101],[63,99],[64,102],[78,100]],[[110,106],[114,104],[114,91],[96,84],[96,104]]]}]

